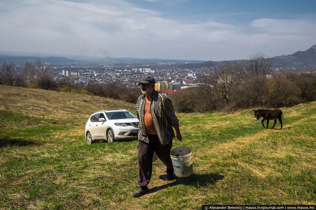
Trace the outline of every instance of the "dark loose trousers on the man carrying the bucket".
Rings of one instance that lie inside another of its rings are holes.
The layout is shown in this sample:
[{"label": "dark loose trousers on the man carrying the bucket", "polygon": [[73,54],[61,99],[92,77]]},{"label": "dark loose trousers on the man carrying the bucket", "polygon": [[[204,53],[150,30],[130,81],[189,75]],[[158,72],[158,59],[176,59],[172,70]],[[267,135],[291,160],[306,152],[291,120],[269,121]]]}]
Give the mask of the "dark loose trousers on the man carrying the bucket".
[{"label": "dark loose trousers on the man carrying the bucket", "polygon": [[156,152],[158,158],[166,165],[167,169],[172,169],[170,150],[172,140],[162,146],[157,135],[148,135],[149,143],[138,141],[138,184],[141,187],[148,185],[153,171],[153,155]]}]

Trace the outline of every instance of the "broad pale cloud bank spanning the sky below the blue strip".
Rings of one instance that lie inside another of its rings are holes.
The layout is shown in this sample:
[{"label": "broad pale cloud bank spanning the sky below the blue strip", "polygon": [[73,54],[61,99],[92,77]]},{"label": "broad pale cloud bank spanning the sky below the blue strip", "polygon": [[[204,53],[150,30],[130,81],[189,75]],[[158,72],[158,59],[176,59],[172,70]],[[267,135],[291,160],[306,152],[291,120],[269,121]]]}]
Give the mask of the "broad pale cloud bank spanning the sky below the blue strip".
[{"label": "broad pale cloud bank spanning the sky below the blue strip", "polygon": [[309,18],[232,25],[165,18],[124,0],[9,2],[0,10],[0,46],[8,51],[218,61],[293,53],[316,42]]}]

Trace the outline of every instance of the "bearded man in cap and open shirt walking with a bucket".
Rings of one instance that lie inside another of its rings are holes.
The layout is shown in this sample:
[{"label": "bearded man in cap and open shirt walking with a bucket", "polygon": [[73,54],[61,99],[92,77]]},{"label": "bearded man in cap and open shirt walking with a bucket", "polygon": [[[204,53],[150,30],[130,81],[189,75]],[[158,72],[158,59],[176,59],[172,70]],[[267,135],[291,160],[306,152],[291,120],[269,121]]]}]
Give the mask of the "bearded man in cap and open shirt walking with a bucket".
[{"label": "bearded man in cap and open shirt walking with a bucket", "polygon": [[165,180],[173,179],[173,166],[170,158],[172,138],[182,140],[179,120],[177,119],[171,100],[162,93],[155,91],[154,77],[144,76],[137,85],[141,85],[141,95],[136,103],[136,114],[139,119],[138,132],[138,184],[140,188],[133,193],[140,197],[149,192],[147,187],[153,171],[153,155],[167,167]]}]

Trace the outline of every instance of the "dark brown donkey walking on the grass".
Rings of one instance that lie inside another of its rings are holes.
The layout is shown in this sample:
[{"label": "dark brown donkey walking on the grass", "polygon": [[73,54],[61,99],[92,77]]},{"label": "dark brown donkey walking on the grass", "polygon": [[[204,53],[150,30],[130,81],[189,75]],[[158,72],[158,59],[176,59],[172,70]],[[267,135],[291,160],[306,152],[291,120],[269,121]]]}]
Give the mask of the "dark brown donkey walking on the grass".
[{"label": "dark brown donkey walking on the grass", "polygon": [[[252,109],[253,110],[253,109]],[[263,122],[267,120],[267,129],[269,125],[269,120],[275,120],[275,124],[272,126],[271,129],[273,129],[276,125],[276,119],[281,124],[281,129],[282,129],[282,119],[283,119],[283,113],[280,109],[258,109],[258,110],[253,110],[255,114],[255,120],[259,120],[260,117],[263,117],[262,125],[265,128],[265,125]]]}]

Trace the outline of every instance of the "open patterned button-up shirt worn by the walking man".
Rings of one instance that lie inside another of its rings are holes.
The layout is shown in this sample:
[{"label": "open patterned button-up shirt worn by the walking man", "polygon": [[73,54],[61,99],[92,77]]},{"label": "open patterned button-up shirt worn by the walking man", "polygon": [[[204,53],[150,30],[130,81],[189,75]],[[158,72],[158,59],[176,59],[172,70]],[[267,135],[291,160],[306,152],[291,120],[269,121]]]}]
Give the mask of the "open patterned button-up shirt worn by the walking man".
[{"label": "open patterned button-up shirt worn by the walking man", "polygon": [[[144,124],[144,108],[146,104],[146,96],[141,95],[136,103],[136,114],[139,119],[138,140],[149,143]],[[154,91],[152,95],[152,102],[150,105],[150,112],[152,114],[154,127],[158,135],[161,145],[166,145],[172,138],[174,138],[174,131],[172,126],[179,122],[173,109],[171,100],[163,93]]]}]

